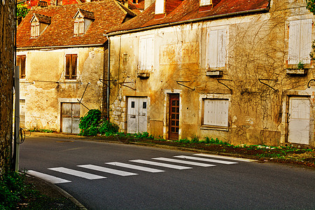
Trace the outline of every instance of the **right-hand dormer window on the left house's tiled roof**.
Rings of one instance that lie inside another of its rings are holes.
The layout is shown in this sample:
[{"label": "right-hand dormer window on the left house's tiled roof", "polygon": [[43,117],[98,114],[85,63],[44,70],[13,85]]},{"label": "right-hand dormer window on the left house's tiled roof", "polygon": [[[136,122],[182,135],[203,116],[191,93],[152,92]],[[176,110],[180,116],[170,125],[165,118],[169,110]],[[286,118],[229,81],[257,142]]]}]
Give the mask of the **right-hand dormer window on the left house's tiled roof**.
[{"label": "right-hand dormer window on the left house's tiled roof", "polygon": [[94,13],[79,8],[73,19],[73,36],[83,36],[94,20]]}]

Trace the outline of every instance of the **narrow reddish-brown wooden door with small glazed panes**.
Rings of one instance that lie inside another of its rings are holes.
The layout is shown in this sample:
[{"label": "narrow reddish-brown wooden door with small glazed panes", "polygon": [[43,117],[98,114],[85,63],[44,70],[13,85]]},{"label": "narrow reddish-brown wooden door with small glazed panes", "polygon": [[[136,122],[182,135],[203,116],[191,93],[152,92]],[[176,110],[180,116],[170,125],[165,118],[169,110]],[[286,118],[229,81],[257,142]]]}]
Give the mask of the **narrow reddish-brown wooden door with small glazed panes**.
[{"label": "narrow reddish-brown wooden door with small glazed panes", "polygon": [[179,139],[179,94],[169,94],[169,139]]}]

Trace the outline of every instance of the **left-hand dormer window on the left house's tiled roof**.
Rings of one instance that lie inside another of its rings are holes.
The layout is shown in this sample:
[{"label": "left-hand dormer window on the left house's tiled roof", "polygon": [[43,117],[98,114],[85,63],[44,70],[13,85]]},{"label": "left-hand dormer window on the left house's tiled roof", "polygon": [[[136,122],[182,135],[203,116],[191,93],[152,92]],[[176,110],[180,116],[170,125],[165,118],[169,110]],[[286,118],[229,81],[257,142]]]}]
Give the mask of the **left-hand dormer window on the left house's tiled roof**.
[{"label": "left-hand dormer window on the left house's tiled roof", "polygon": [[37,38],[50,25],[51,18],[41,14],[34,14],[31,18],[31,38]]}]

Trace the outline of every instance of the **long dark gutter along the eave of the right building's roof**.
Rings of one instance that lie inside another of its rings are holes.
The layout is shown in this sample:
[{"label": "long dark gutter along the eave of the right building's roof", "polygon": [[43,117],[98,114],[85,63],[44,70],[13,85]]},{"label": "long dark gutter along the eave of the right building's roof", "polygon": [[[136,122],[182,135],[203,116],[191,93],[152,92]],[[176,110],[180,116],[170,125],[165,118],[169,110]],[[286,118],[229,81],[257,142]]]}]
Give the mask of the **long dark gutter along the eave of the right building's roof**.
[{"label": "long dark gutter along the eave of the right building's roof", "polygon": [[214,19],[218,19],[218,18],[228,18],[228,17],[232,17],[232,16],[237,16],[237,15],[247,15],[247,14],[251,14],[251,13],[264,13],[264,12],[268,12],[269,11],[269,5],[267,6],[267,8],[260,8],[260,9],[255,9],[255,10],[246,10],[246,11],[241,11],[241,12],[236,12],[236,13],[228,13],[228,14],[221,14],[221,15],[213,15],[213,16],[209,16],[209,17],[204,17],[204,18],[196,18],[193,20],[183,20],[183,21],[179,21],[179,22],[169,22],[169,23],[164,23],[161,25],[153,25],[153,26],[149,26],[149,27],[143,27],[143,28],[138,28],[138,29],[130,29],[127,31],[116,31],[116,32],[112,32],[107,34],[106,36],[116,36],[116,35],[120,35],[120,34],[131,34],[131,33],[135,33],[135,32],[139,32],[139,31],[145,31],[145,30],[149,30],[149,29],[158,29],[158,28],[164,28],[164,27],[171,27],[174,25],[181,25],[181,24],[186,24],[186,23],[193,23],[193,22],[200,22],[200,21],[204,21],[204,20],[214,20]]}]

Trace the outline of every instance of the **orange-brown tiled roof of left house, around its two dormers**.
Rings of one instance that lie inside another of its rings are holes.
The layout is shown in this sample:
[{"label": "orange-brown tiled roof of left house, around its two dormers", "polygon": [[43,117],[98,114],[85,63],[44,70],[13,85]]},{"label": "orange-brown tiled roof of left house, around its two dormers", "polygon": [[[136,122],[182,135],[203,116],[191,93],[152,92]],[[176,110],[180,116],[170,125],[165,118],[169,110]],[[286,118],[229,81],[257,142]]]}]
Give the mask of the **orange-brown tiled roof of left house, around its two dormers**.
[{"label": "orange-brown tiled roof of left house, around its two dormers", "polygon": [[[125,10],[115,1],[94,1],[30,10],[18,27],[17,46],[18,48],[29,48],[105,43],[104,32],[111,27],[120,25],[127,15]],[[94,13],[94,21],[83,36],[73,36],[73,16],[78,8]],[[51,17],[50,25],[38,38],[31,38],[31,23],[29,21],[34,13]]]}]

